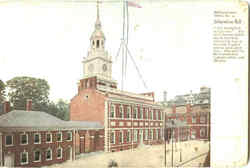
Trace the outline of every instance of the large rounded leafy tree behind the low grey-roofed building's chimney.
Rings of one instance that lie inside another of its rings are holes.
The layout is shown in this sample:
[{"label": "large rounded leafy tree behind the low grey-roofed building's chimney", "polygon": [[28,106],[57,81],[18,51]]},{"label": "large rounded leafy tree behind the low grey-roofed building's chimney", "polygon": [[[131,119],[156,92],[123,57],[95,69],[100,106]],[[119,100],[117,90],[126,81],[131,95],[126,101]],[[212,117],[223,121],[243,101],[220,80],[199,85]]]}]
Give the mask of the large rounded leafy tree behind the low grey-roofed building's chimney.
[{"label": "large rounded leafy tree behind the low grey-roofed building's chimney", "polygon": [[15,77],[8,80],[8,96],[14,109],[25,110],[26,100],[32,99],[32,110],[45,111],[49,103],[49,85],[44,79]]}]

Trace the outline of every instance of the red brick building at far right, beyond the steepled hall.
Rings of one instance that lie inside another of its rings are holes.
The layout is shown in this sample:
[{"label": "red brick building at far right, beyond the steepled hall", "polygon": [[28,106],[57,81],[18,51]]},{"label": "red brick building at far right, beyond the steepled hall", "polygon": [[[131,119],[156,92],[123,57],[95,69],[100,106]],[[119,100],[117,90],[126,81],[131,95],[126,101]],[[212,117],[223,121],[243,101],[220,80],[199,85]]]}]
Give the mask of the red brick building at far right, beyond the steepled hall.
[{"label": "red brick building at far right, beyond the steepled hall", "polygon": [[210,88],[202,87],[199,93],[178,95],[161,103],[165,122],[174,120],[182,125],[174,129],[175,140],[210,140]]}]

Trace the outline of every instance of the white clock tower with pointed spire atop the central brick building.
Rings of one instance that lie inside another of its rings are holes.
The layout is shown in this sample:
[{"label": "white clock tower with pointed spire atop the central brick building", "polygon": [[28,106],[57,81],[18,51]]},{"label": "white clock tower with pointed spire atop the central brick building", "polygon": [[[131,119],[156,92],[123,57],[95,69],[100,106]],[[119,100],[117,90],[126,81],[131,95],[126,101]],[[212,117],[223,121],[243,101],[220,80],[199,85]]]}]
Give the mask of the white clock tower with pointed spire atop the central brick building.
[{"label": "white clock tower with pointed spire atop the central brick building", "polygon": [[112,80],[112,57],[105,50],[105,36],[102,31],[99,2],[97,2],[97,19],[95,30],[90,37],[90,49],[83,60],[84,78],[94,77]]}]

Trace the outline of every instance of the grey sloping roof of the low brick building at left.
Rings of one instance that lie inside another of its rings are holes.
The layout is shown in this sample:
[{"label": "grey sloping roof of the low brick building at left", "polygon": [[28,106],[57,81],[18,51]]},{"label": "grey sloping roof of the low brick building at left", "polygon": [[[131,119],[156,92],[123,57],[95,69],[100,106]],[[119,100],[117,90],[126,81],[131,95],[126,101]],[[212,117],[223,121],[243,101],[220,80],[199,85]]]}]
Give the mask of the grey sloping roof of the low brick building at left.
[{"label": "grey sloping roof of the low brick building at left", "polygon": [[100,129],[99,122],[64,121],[42,111],[14,110],[0,116],[0,128],[15,129]]}]

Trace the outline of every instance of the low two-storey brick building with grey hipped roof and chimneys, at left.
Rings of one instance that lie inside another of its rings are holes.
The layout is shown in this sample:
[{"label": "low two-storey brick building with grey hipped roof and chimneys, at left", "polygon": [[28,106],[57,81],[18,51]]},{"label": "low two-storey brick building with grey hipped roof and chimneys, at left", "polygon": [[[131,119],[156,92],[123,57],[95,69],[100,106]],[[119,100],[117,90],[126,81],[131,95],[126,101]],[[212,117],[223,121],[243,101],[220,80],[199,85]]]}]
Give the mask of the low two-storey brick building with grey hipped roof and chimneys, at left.
[{"label": "low two-storey brick building with grey hipped roof and chimneys, at left", "polygon": [[10,109],[9,102],[4,103],[4,114],[0,116],[0,166],[40,167],[74,160],[78,133],[86,137],[85,149],[101,150],[100,123],[68,122],[45,112],[31,111],[30,101],[27,108],[6,111]]}]

